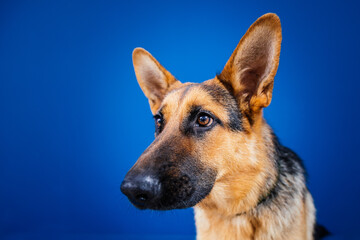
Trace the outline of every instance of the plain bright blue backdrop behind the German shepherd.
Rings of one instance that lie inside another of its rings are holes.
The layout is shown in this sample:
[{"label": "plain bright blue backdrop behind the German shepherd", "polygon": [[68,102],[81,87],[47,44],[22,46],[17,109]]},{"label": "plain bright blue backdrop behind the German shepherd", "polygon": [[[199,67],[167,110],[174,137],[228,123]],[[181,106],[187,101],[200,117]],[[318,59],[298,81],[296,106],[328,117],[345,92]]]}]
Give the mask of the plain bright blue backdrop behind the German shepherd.
[{"label": "plain bright blue backdrop behind the German shepherd", "polygon": [[131,52],[144,47],[181,81],[201,82],[275,12],[283,42],[265,117],[303,158],[318,221],[356,239],[358,10],[347,1],[1,1],[0,238],[193,239],[192,209],[139,211],[119,191],[154,130]]}]

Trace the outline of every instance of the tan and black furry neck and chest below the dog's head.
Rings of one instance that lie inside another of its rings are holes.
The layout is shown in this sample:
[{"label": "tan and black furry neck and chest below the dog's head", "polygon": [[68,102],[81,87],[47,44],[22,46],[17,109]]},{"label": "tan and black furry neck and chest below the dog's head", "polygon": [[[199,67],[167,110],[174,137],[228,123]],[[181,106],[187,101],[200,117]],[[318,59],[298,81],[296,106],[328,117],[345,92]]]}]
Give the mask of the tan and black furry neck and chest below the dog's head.
[{"label": "tan and black furry neck and chest below the dog's head", "polygon": [[[289,166],[286,160],[289,156],[297,158],[296,154],[280,145],[269,126],[263,129],[262,135],[261,142],[271,146],[267,148],[271,151],[266,152],[268,164],[259,172],[259,187],[252,186],[252,190],[244,198],[236,199],[233,198],[236,196],[235,193],[231,196],[226,195],[229,192],[229,189],[226,189],[229,183],[216,183],[214,191],[194,208],[197,239],[258,239],[259,237],[255,236],[261,234],[263,238],[259,239],[272,239],[272,236],[278,236],[277,232],[282,232],[284,228],[290,229],[291,224],[299,224],[299,221],[294,219],[304,219],[301,214],[304,214],[307,208],[313,208],[312,201],[307,200],[311,196],[304,184],[304,172],[300,161],[295,159],[295,165]],[[299,173],[290,173],[293,168]],[[228,178],[235,179],[232,184],[237,184],[234,175]],[[289,192],[292,184],[297,187]],[[308,206],[306,202],[309,203]],[[302,224],[307,225],[306,221]],[[299,239],[311,239],[311,236],[300,236]]]}]

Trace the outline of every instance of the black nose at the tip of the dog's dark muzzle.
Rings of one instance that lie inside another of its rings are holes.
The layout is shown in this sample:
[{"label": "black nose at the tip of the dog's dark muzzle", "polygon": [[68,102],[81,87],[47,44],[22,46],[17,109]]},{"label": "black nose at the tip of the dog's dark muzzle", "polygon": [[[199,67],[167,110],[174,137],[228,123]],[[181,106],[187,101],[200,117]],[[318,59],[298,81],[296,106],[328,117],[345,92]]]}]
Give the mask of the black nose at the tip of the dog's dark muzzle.
[{"label": "black nose at the tip of the dog's dark muzzle", "polygon": [[161,195],[161,184],[151,176],[126,176],[120,189],[136,207],[141,209],[151,207]]}]

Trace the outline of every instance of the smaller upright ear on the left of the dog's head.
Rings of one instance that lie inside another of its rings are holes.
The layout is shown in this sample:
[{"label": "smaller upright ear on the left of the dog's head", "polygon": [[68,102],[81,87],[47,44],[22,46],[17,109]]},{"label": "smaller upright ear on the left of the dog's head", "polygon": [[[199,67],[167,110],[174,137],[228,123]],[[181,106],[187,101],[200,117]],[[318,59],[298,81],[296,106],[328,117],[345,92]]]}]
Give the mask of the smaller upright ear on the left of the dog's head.
[{"label": "smaller upright ear on the left of the dog's head", "polygon": [[155,114],[166,93],[180,82],[145,49],[135,48],[132,56],[136,78]]}]

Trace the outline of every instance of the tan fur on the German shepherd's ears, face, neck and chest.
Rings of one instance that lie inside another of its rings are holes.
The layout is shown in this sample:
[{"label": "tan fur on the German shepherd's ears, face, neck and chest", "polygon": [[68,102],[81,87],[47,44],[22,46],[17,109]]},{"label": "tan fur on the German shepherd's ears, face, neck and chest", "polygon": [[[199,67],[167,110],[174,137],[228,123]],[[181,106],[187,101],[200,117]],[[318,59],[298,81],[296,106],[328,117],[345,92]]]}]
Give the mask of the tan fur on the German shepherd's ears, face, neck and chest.
[{"label": "tan fur on the German shepherd's ears, face, neck and chest", "polygon": [[[210,194],[194,207],[198,240],[313,239],[315,208],[309,192],[284,204],[289,209],[281,205],[276,209],[258,206],[278,177],[272,161],[271,129],[262,116],[262,108],[271,102],[280,45],[280,20],[275,14],[266,14],[240,40],[219,78],[202,83],[232,91],[241,112],[252,119],[251,123],[243,119],[244,131],[216,126],[203,140],[178,140],[202,164],[217,172]],[[181,84],[145,50],[135,49],[133,59],[151,111],[155,114],[162,109],[168,119],[157,144],[179,135],[180,123],[193,105],[206,106],[224,123],[230,121],[223,106],[206,91],[200,86],[187,90],[190,83]],[[257,82],[252,81],[255,78]],[[291,181],[306,188],[305,179]]]}]

